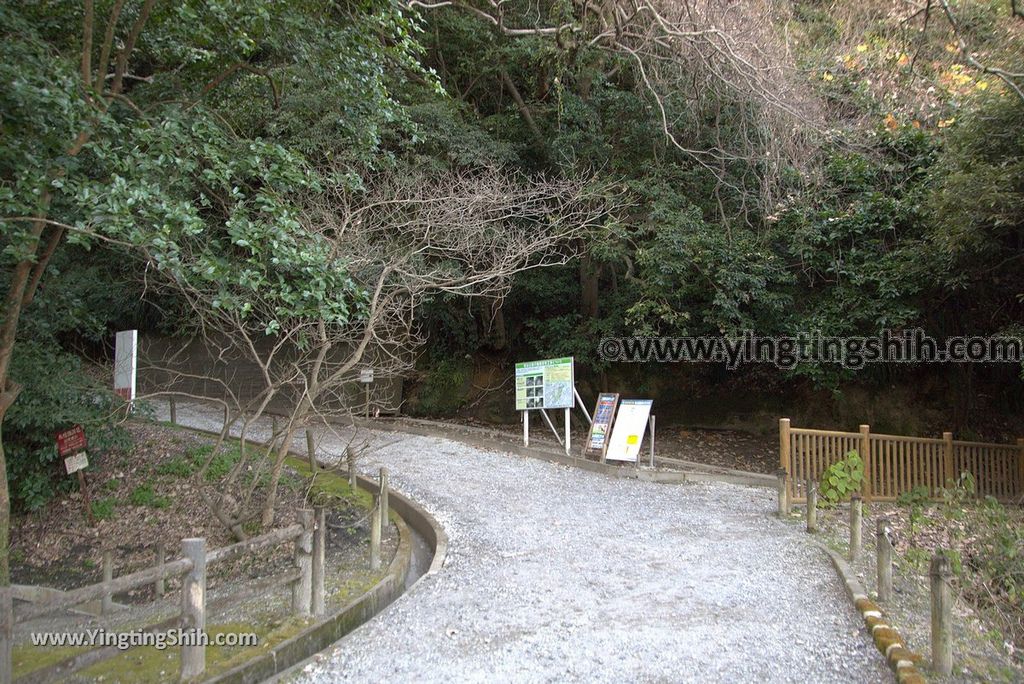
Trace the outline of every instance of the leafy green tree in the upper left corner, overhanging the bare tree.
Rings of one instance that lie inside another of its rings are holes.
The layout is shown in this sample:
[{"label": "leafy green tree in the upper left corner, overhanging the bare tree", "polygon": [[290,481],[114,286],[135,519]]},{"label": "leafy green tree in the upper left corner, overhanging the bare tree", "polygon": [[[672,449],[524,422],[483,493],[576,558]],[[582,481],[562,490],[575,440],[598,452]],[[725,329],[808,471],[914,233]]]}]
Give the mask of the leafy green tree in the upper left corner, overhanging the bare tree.
[{"label": "leafy green tree in the upper left corner, overhanging the bare tree", "polygon": [[[173,272],[183,239],[212,230],[224,251],[204,276],[272,282],[282,314],[317,306],[344,277],[290,240],[289,196],[315,186],[316,174],[300,153],[259,136],[294,142],[297,131],[321,130],[336,136],[335,151],[372,151],[379,122],[399,109],[383,66],[415,66],[415,27],[393,5],[15,2],[0,7],[0,421],[24,388],[12,370],[25,312],[69,245],[140,250]],[[303,70],[330,86],[329,106],[294,93]],[[257,88],[262,98],[250,102]],[[268,250],[280,250],[269,269],[232,267]],[[347,306],[332,305],[336,314]],[[5,457],[0,450],[0,586],[9,582]]]}]

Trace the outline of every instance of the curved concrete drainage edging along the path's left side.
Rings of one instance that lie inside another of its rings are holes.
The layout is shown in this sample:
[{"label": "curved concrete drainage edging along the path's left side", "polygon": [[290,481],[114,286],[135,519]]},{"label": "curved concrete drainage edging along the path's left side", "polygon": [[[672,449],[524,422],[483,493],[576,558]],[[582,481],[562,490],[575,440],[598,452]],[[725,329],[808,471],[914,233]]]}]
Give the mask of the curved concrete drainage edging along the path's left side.
[{"label": "curved concrete drainage edging along the path's left side", "polygon": [[[183,425],[178,427],[207,434],[219,434],[212,430]],[[304,455],[294,450],[291,450],[290,453],[295,457],[305,458]],[[358,485],[364,489],[373,494],[379,491],[379,484],[375,480],[358,474],[356,478]],[[393,519],[398,527],[399,541],[398,550],[388,565],[387,574],[380,582],[338,612],[328,615],[294,637],[283,641],[268,652],[203,681],[233,684],[236,682],[261,682],[272,677],[280,677],[285,672],[301,666],[311,656],[379,614],[406,593],[406,581],[412,566],[413,555],[413,540],[409,531],[410,528],[416,530],[420,537],[427,541],[433,553],[430,567],[416,580],[410,590],[419,585],[424,578],[438,572],[447,557],[449,541],[444,529],[426,509],[394,488],[388,491],[388,508],[397,513]]]}]

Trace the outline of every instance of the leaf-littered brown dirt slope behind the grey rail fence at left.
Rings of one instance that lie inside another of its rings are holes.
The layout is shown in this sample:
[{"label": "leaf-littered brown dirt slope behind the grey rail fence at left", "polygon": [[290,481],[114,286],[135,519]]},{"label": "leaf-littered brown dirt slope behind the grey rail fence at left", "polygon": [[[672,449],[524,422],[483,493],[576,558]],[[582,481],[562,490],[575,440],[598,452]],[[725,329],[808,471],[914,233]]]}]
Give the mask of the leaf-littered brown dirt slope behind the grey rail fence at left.
[{"label": "leaf-littered brown dirt slope behind the grey rail fence at left", "polygon": [[[208,548],[237,541],[210,513],[201,487],[215,494],[218,478],[231,465],[230,455],[210,468],[206,477],[196,474],[214,439],[207,435],[154,423],[127,425],[134,447],[106,455],[90,455],[87,478],[96,515],[90,525],[82,496],[72,491],[50,502],[38,513],[16,516],[11,530],[11,579],[71,589],[102,579],[102,554],[114,555],[115,576],[151,566],[158,542],[167,558],[177,557],[180,541],[202,537]],[[274,526],[296,521],[295,510],[303,507],[304,478],[286,468],[279,490]],[[250,523],[251,524],[251,523]],[[328,550],[332,554],[365,552],[369,535],[366,511],[357,502],[332,500],[328,513]],[[247,525],[250,533],[259,533]],[[291,547],[281,545],[211,567],[209,583],[215,588],[224,579],[256,579],[291,566]],[[339,559],[341,560],[341,559]],[[169,583],[169,589],[173,589]],[[136,603],[152,598],[144,588],[116,600]]]}]

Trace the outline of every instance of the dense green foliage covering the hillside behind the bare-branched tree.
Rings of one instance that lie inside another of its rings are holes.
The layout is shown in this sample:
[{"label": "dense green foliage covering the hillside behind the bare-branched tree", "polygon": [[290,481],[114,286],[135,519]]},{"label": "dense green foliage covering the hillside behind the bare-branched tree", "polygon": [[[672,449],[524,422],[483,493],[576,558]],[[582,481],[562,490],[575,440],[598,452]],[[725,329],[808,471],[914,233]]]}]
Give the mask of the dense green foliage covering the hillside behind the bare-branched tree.
[{"label": "dense green foliage covering the hillside behind the bare-branched tree", "polygon": [[[26,468],[54,472],[45,433],[109,415],[69,354],[102,358],[122,326],[194,323],[195,302],[148,268],[267,334],[310,312],[361,315],[346,255],[303,228],[301,199],[378,170],[583,173],[626,198],[581,259],[518,276],[503,305],[443,296],[421,311],[437,371],[423,411],[460,405],[451,393],[479,354],[571,354],[600,376],[608,335],[1019,330],[1024,100],[971,56],[1021,71],[1009,3],[957,3],[956,31],[911,38],[884,3],[769,4],[746,18],[785,101],[692,53],[601,42],[571,3],[501,4],[522,30],[390,0],[0,7],[5,274],[37,258],[29,217],[51,222],[43,238],[65,230],[11,366],[26,393],[4,441],[19,444],[25,505],[46,490]],[[761,18],[785,31],[758,33]],[[565,30],[528,30],[541,26]],[[776,376],[837,391],[855,378]]]}]

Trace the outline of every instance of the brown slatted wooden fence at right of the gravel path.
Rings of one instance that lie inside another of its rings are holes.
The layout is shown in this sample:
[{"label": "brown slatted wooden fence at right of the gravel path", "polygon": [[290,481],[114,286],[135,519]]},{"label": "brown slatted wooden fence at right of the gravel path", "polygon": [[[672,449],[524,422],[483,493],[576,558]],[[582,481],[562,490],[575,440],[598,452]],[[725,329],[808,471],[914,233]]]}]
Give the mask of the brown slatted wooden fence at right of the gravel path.
[{"label": "brown slatted wooden fence at right of the gravel path", "polygon": [[[895,501],[918,485],[938,499],[942,487],[971,473],[979,497],[1004,501],[1024,497],[1024,439],[1016,444],[991,444],[942,438],[878,434],[867,425],[858,432],[795,428],[788,418],[778,422],[779,464],[786,473],[794,503],[806,502],[807,479],[818,481],[828,466],[856,451],[864,461],[865,501]],[[780,485],[781,486],[781,485]]]}]

